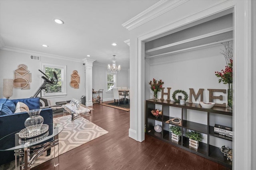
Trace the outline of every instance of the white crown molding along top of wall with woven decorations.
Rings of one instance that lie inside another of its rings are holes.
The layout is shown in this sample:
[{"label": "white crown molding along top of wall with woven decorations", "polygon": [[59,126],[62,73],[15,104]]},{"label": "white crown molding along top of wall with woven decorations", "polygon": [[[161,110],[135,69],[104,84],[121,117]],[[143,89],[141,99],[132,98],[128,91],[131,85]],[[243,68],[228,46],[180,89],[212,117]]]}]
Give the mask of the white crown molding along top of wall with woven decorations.
[{"label": "white crown molding along top of wall with woven decorations", "polygon": [[16,53],[36,55],[36,56],[41,56],[41,57],[50,57],[50,58],[54,58],[54,59],[62,59],[62,60],[66,60],[66,61],[74,61],[74,62],[78,62],[78,63],[83,63],[82,60],[78,60],[78,59],[73,59],[73,58],[69,58],[69,57],[63,57],[60,55],[53,55],[53,54],[48,54],[48,53],[41,53],[38,51],[31,51],[31,50],[27,50],[27,49],[20,49],[20,48],[15,48],[15,47],[10,47],[10,46],[1,47],[0,49],[4,50],[4,51],[12,51],[12,52],[16,52]]}]

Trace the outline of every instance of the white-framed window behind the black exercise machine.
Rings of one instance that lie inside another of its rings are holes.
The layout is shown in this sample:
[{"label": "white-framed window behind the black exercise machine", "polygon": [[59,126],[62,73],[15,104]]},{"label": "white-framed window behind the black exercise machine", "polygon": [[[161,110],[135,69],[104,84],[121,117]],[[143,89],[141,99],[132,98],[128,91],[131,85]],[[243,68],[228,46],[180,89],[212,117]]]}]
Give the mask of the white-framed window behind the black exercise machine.
[{"label": "white-framed window behind the black exercise machine", "polygon": [[[49,79],[53,78],[54,81],[54,74],[56,72],[58,82],[53,86],[49,86],[46,84],[47,90],[42,93],[43,96],[61,96],[66,95],[66,66],[65,65],[58,65],[58,64],[49,64],[49,63],[42,63],[42,71],[48,76]],[[65,78],[64,78],[65,77]],[[44,80],[42,79],[42,82]]]}]

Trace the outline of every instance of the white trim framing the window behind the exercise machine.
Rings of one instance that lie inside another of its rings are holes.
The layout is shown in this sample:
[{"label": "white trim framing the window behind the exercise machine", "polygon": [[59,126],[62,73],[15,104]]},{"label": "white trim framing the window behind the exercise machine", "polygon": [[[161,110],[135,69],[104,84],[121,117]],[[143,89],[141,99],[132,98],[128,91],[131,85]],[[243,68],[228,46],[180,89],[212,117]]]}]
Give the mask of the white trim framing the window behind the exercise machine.
[{"label": "white trim framing the window behind the exercise machine", "polygon": [[[51,64],[51,63],[41,63],[41,70],[44,72],[45,67],[54,67],[54,68],[60,68],[63,70],[63,74],[61,75],[61,80],[62,80],[62,92],[58,93],[52,93],[52,94],[47,94],[42,91],[42,97],[47,97],[47,98],[62,98],[66,97],[67,95],[67,82],[66,82],[66,72],[67,72],[67,66],[66,65],[60,65],[60,64]],[[44,80],[41,79],[41,83],[43,83]]]}]

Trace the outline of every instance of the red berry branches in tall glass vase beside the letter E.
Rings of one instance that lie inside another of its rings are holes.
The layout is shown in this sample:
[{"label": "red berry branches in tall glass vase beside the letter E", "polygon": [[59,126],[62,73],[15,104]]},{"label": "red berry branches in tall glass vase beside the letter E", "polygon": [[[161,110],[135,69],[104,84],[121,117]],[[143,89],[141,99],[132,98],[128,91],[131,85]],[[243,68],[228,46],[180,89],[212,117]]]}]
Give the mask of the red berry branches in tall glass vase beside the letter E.
[{"label": "red berry branches in tall glass vase beside the letter E", "polygon": [[230,84],[233,82],[233,60],[230,59],[230,63],[225,66],[225,70],[221,70],[221,72],[216,71],[215,75],[220,77],[219,83],[223,82],[223,84]]}]

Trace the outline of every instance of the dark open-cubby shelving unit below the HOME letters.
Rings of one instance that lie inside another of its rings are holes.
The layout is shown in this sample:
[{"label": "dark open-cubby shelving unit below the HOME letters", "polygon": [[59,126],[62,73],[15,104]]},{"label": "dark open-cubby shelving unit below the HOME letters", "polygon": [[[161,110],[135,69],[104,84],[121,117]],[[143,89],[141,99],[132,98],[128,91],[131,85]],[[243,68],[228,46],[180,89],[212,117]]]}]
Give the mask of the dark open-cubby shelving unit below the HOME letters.
[{"label": "dark open-cubby shelving unit below the HOME letters", "polygon": [[[151,110],[156,109],[156,105],[162,106],[163,116],[161,117],[154,117],[151,114]],[[172,141],[171,136],[172,133],[169,132],[169,126],[170,125],[176,125],[175,123],[166,123],[167,120],[172,119],[174,117],[170,117],[170,107],[179,107],[181,108],[181,117],[182,119],[182,125],[179,126],[182,129],[182,137],[180,138],[179,142]],[[193,110],[193,111],[202,111],[207,114],[207,120],[205,124],[197,123],[193,121],[186,120],[186,117],[188,115],[187,111]],[[228,140],[232,141],[232,138],[230,137],[224,137],[222,135],[218,135],[214,133],[214,127],[210,126],[210,113],[212,114],[220,114],[220,115],[228,115],[230,119],[232,119],[232,111],[228,110],[226,107],[212,107],[212,109],[206,109],[202,108],[200,104],[191,104],[191,103],[185,103],[185,105],[180,105],[179,103],[176,103],[174,101],[166,101],[166,100],[146,100],[146,133],[148,135],[151,135],[153,137],[156,137],[162,141],[165,141],[167,143],[170,143],[172,145],[175,145],[177,147],[180,147],[182,149],[188,150],[189,152],[192,152],[194,154],[197,154],[199,156],[202,156],[204,158],[207,158],[209,160],[212,160],[214,162],[217,162],[219,164],[222,164],[230,169],[232,169],[232,162],[227,160],[226,157],[224,157],[224,154],[220,151],[218,147],[215,147],[210,144],[209,139],[210,137],[217,137],[221,140]],[[218,122],[214,122],[218,124]],[[162,132],[157,133],[154,131],[154,126],[157,124],[162,124]],[[204,133],[207,135],[207,143],[200,142],[198,149],[194,149],[192,147],[189,147],[188,138],[185,137],[185,133],[187,130],[193,130],[198,131],[200,133]]]}]

